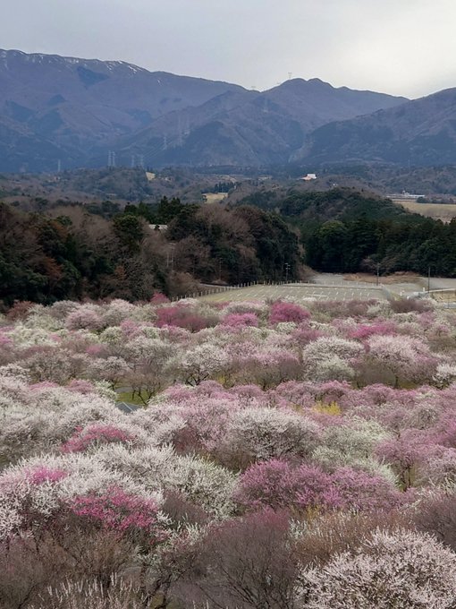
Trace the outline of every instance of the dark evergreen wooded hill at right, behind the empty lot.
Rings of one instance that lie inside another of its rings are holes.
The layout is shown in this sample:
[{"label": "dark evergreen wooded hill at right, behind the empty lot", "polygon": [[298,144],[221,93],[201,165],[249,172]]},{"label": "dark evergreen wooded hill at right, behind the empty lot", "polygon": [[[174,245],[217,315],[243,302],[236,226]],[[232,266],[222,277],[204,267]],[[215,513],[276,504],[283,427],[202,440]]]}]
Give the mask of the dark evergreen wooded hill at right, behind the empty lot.
[{"label": "dark evergreen wooded hill at right, behind the empty lot", "polygon": [[412,270],[456,275],[456,222],[412,214],[388,199],[351,189],[253,194],[242,203],[274,209],[300,228],[306,262],[328,272]]}]

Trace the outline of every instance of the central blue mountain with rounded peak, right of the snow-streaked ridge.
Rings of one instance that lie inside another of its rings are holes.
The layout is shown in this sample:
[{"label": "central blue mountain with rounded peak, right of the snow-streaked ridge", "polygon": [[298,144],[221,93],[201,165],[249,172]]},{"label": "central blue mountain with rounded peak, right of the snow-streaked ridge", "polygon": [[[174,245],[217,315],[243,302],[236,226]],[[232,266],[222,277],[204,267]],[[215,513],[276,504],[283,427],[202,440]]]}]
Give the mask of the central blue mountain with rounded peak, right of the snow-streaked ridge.
[{"label": "central blue mountain with rounded peak, right of the snow-streaked ridge", "polygon": [[294,79],[262,93],[229,91],[199,107],[163,116],[124,142],[120,152],[143,154],[154,164],[197,167],[286,163],[307,133],[336,116],[359,116],[403,100],[334,89],[318,79]]}]

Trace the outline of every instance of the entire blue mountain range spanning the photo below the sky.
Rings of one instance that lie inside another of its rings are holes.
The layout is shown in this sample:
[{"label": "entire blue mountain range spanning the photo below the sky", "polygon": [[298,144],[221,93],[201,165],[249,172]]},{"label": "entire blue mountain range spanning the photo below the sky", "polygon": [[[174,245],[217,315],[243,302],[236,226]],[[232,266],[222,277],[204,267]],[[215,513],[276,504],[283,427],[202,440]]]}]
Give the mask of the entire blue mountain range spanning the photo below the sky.
[{"label": "entire blue mountain range spanning the photo below the sky", "polygon": [[0,171],[456,163],[456,90],[410,101],[293,79],[239,85],[0,50]]}]

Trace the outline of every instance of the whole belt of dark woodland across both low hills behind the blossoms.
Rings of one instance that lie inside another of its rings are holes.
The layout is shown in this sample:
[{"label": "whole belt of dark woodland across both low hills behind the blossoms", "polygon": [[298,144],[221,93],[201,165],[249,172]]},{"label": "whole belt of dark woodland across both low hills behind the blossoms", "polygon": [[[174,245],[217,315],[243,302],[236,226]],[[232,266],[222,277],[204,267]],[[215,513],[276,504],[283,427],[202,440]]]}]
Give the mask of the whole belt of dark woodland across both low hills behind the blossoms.
[{"label": "whole belt of dark woodland across both low hills behind the blossoms", "polygon": [[[0,299],[178,296],[198,283],[303,277],[315,270],[456,275],[456,222],[423,218],[350,189],[256,193],[238,206],[110,202],[24,213],[0,204]],[[264,209],[260,209],[264,208]],[[165,226],[159,230],[156,225]]]}]

